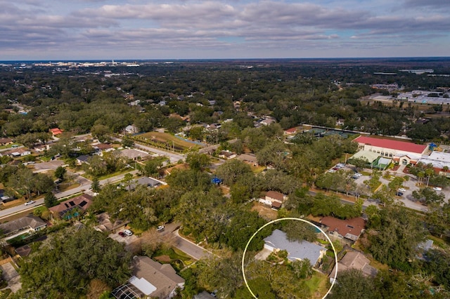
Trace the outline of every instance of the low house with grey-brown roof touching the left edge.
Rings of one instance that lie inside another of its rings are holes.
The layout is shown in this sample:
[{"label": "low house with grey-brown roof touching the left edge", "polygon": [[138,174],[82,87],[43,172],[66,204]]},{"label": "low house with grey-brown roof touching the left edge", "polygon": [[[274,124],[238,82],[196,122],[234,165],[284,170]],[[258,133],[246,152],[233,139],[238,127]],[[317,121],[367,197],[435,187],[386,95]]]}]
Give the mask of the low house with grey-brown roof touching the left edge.
[{"label": "low house with grey-brown roof touching the left edge", "polygon": [[34,215],[27,215],[17,220],[2,223],[0,225],[0,233],[4,235],[4,240],[8,240],[20,234],[37,232],[46,226],[46,222],[41,218]]}]

